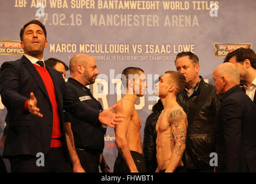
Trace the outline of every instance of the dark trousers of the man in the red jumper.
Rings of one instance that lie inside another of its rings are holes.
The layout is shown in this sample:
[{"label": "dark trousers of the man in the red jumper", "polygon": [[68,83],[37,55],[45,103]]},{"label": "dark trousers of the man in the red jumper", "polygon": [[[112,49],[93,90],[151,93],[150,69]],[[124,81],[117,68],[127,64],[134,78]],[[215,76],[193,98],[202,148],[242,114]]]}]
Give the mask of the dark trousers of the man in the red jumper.
[{"label": "dark trousers of the man in the red jumper", "polygon": [[38,158],[32,155],[14,156],[10,163],[13,173],[72,173],[64,147],[50,148],[46,155]]}]

